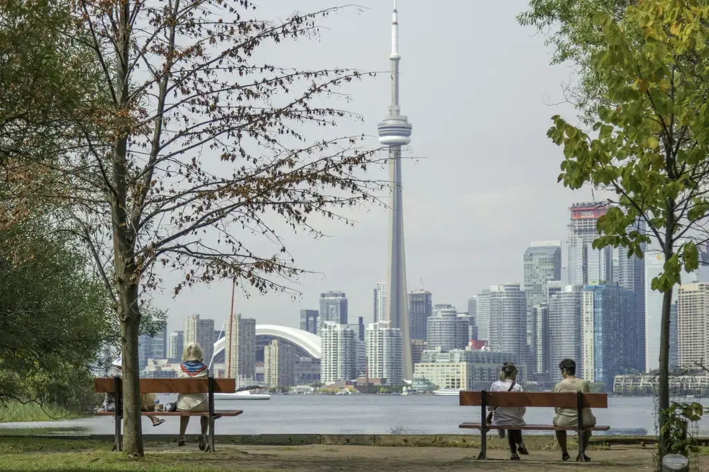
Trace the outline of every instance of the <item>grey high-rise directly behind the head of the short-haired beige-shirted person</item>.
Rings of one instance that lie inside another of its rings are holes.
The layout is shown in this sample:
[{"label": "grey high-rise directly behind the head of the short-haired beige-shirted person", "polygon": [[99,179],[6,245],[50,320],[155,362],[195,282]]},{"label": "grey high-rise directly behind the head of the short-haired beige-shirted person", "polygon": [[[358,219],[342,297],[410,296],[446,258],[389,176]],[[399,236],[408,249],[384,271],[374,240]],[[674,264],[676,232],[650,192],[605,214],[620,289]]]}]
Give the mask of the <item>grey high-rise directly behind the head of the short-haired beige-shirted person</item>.
[{"label": "grey high-rise directly behind the head of the short-haired beige-shirted person", "polygon": [[563,359],[576,361],[576,373],[584,371],[581,349],[581,300],[583,287],[567,285],[549,297],[549,373],[559,375]]}]

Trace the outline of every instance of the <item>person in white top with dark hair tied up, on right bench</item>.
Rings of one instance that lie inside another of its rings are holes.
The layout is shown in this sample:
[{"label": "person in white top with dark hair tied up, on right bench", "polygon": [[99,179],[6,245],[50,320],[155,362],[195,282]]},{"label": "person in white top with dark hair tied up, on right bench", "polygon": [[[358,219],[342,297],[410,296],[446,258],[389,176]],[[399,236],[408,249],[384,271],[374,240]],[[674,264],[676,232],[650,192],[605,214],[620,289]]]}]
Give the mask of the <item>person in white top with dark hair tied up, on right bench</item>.
[{"label": "person in white top with dark hair tied up, on right bench", "polygon": [[[496,381],[490,387],[491,392],[521,392],[522,386],[516,382],[517,367],[511,362],[506,362],[502,366],[500,372],[500,380]],[[492,415],[492,425],[494,426],[525,426],[524,415],[527,408],[517,407],[488,407]],[[488,418],[490,416],[488,415]],[[499,429],[500,437],[505,437],[505,430]],[[522,431],[520,429],[508,429],[508,443],[510,444],[510,460],[519,461],[520,454],[528,455],[529,452],[522,441]]]}]

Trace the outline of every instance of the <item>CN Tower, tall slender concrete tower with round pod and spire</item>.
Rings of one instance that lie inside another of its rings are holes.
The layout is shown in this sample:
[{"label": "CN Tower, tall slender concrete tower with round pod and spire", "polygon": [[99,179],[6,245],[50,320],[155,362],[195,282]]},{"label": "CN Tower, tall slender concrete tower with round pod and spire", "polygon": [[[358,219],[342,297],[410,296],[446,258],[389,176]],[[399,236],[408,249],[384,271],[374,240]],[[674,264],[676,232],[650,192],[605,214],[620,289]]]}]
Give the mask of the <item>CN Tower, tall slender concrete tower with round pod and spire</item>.
[{"label": "CN Tower, tall slender concrete tower with round pod and spire", "polygon": [[389,220],[389,290],[386,315],[390,326],[401,331],[401,374],[406,380],[413,378],[411,364],[411,339],[407,293],[406,257],[403,249],[403,201],[401,189],[401,146],[411,142],[411,125],[406,116],[401,115],[399,106],[399,61],[398,54],[398,11],[394,0],[391,22],[391,105],[389,114],[379,123],[379,142],[389,147],[389,181],[391,182],[391,203]]}]

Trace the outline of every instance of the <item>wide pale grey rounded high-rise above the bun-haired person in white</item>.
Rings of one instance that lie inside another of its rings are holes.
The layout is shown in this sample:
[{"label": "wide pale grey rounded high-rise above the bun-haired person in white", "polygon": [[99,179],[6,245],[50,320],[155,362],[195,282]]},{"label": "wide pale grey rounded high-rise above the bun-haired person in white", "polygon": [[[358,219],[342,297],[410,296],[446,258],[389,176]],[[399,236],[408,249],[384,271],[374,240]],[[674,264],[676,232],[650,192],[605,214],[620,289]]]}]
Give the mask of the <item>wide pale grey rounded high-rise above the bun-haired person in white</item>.
[{"label": "wide pale grey rounded high-rise above the bun-haired person in white", "polygon": [[527,351],[527,298],[519,283],[490,287],[490,350],[515,354],[525,366],[530,361]]}]

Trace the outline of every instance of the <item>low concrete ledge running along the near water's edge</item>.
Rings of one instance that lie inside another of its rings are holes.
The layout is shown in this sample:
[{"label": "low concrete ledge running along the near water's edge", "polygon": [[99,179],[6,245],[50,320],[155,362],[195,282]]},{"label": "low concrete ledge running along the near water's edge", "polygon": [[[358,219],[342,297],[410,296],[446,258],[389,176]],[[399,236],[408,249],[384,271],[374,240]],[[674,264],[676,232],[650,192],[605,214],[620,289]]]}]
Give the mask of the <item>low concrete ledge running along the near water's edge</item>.
[{"label": "low concrete ledge running along the near water's edge", "polygon": [[[94,440],[113,442],[113,434],[7,434],[4,437],[35,437],[43,439],[62,440]],[[189,441],[197,441],[197,436],[188,434]],[[175,434],[145,434],[145,443],[177,442]],[[463,447],[479,448],[479,434],[216,434],[215,442],[221,444],[238,444],[245,446],[304,446],[308,444],[325,444],[330,446],[382,446],[382,447]],[[575,437],[570,440],[575,442]],[[696,439],[698,445],[709,446],[709,437]],[[499,444],[498,444],[499,443]],[[525,434],[525,443],[530,449],[547,449],[556,443],[552,434]],[[497,446],[507,447],[506,439],[499,439],[497,434],[488,435],[491,449]],[[657,437],[652,436],[594,436],[592,446],[610,447],[613,445],[654,446]]]}]

